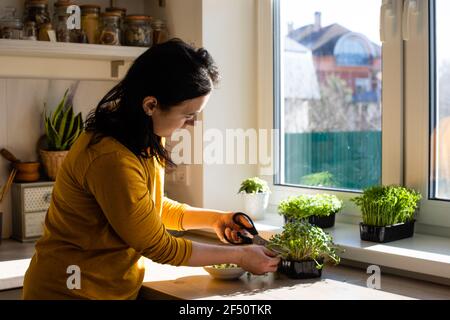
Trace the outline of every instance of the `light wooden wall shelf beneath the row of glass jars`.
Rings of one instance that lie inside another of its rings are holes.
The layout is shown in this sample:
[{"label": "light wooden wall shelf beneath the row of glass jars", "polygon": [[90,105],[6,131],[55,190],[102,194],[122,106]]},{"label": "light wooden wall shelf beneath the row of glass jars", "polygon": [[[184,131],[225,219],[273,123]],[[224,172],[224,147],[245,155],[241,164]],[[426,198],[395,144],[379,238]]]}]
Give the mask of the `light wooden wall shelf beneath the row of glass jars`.
[{"label": "light wooden wall shelf beneath the row of glass jars", "polygon": [[0,77],[118,80],[147,49],[0,39]]}]

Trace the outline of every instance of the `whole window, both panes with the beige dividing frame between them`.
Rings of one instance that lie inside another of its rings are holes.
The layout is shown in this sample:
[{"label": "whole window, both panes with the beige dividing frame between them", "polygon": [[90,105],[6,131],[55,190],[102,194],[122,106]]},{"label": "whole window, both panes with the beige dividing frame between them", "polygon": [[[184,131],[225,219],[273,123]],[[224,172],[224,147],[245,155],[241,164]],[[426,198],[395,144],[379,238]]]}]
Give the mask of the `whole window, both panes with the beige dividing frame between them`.
[{"label": "whole window, both panes with the beige dividing frame between them", "polygon": [[450,236],[450,1],[273,1],[274,203],[400,184]]}]

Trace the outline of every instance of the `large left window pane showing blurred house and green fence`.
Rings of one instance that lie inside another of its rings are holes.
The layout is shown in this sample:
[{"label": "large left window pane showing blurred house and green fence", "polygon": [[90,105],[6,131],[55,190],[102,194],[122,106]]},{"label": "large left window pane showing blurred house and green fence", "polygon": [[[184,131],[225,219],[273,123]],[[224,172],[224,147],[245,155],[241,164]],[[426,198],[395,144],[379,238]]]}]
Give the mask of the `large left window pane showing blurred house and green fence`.
[{"label": "large left window pane showing blurred house and green fence", "polygon": [[277,5],[278,182],[337,190],[379,184],[381,0],[282,0]]}]

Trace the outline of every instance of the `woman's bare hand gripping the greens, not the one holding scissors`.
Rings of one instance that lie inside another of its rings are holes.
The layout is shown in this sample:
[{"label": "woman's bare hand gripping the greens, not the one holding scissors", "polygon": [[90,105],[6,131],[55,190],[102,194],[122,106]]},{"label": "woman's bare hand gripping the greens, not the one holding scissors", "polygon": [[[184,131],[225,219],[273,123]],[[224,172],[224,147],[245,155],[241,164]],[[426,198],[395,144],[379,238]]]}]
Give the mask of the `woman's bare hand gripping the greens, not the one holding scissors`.
[{"label": "woman's bare hand gripping the greens, not the one holding scissors", "polygon": [[280,258],[273,251],[259,245],[236,247],[240,250],[238,265],[253,274],[261,275],[267,272],[275,272]]}]

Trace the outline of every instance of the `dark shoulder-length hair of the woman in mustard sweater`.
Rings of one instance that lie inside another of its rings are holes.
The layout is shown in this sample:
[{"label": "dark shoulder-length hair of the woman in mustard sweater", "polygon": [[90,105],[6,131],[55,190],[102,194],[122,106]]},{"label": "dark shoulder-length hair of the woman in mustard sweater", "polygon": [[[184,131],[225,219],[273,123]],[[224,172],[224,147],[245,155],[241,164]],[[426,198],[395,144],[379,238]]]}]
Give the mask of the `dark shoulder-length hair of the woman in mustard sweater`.
[{"label": "dark shoulder-length hair of the woman in mustard sweater", "polygon": [[161,137],[153,133],[152,119],[145,114],[145,97],[154,96],[158,107],[169,111],[183,101],[211,92],[219,73],[205,49],[195,49],[180,39],[155,45],[139,56],[125,78],[112,88],[86,119],[92,143],[110,136],[138,157],[156,157],[174,166]]}]

